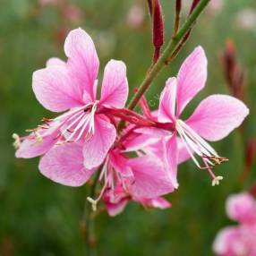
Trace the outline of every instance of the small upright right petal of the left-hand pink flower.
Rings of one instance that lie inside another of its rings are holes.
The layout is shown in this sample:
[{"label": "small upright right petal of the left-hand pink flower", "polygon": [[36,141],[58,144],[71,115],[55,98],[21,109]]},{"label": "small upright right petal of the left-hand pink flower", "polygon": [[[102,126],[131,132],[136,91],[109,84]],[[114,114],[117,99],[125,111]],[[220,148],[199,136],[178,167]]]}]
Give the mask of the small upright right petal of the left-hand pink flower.
[{"label": "small upright right petal of the left-hand pink flower", "polygon": [[123,108],[127,97],[126,66],[121,61],[111,60],[105,67],[100,103],[109,107]]}]

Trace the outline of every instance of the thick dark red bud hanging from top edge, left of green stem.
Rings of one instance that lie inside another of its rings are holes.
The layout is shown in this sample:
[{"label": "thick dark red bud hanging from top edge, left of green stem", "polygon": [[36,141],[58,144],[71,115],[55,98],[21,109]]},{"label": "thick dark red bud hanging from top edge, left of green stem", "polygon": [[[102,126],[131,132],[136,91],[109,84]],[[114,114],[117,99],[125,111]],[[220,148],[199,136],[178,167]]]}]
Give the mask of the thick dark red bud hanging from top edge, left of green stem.
[{"label": "thick dark red bud hanging from top edge, left of green stem", "polygon": [[164,21],[162,7],[158,0],[148,0],[149,13],[152,20],[152,42],[155,47],[153,62],[158,61],[164,43]]}]

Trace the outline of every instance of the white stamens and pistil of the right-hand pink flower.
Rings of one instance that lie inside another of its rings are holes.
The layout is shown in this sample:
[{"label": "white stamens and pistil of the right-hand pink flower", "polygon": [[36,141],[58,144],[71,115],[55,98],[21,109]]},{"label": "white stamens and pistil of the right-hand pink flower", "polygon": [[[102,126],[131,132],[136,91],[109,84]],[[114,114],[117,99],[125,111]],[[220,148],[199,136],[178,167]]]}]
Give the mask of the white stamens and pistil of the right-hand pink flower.
[{"label": "white stamens and pistil of the right-hand pink flower", "polygon": [[[195,165],[200,169],[207,169],[209,171],[209,175],[212,177],[213,186],[218,184],[223,177],[216,176],[212,172],[212,167],[219,165],[228,159],[219,157],[215,149],[213,149],[207,141],[203,140],[198,133],[194,132],[192,128],[182,120],[176,120],[175,128]],[[201,158],[203,166],[201,166],[195,155]]]}]

